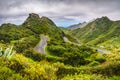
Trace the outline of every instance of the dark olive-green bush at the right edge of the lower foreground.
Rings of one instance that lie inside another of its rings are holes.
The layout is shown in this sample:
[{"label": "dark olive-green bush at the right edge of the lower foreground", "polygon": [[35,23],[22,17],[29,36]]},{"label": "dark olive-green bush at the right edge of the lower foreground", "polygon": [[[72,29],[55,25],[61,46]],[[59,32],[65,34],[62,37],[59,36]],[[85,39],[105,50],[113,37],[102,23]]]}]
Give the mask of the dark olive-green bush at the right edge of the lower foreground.
[{"label": "dark olive-green bush at the right edge of the lower foreground", "polygon": [[92,73],[106,76],[120,76],[120,62],[102,64],[90,69]]}]

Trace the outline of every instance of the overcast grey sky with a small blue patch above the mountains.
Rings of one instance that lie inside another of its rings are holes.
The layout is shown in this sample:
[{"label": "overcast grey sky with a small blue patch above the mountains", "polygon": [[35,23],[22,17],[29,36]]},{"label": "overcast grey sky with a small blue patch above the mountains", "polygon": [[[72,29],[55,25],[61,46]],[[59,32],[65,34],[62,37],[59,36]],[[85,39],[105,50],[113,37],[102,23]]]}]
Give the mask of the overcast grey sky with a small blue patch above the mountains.
[{"label": "overcast grey sky with a small blue patch above the mountains", "polygon": [[29,13],[63,27],[102,16],[120,20],[120,0],[0,0],[0,24],[22,24]]}]

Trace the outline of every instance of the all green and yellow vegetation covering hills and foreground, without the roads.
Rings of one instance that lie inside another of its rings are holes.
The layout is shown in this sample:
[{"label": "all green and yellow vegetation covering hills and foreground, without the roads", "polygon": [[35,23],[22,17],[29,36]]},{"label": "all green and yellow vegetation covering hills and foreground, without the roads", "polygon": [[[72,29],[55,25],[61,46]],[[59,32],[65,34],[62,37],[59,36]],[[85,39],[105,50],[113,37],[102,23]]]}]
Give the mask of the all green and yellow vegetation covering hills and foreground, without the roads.
[{"label": "all green and yellow vegetation covering hills and foreground, without the roads", "polygon": [[[103,17],[75,30],[80,31],[78,34],[73,31],[72,35],[84,45],[79,45],[69,31],[62,31],[47,17],[40,18],[34,13],[20,26],[3,24],[0,27],[0,80],[119,80],[118,23]],[[47,54],[34,50],[41,41],[40,35],[49,38],[45,48]],[[71,43],[64,42],[63,37]],[[99,39],[103,42],[98,42]],[[114,44],[110,46],[111,42]],[[112,51],[100,54],[95,44],[105,45]],[[9,47],[11,45],[14,47]]]}]

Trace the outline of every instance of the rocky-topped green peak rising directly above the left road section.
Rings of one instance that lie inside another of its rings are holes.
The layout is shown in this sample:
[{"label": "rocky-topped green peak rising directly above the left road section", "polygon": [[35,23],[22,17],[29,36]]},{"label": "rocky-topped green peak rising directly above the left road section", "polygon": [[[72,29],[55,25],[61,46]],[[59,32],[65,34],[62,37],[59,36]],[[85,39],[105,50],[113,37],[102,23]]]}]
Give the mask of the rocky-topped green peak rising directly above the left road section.
[{"label": "rocky-topped green peak rising directly above the left road section", "polygon": [[64,35],[62,30],[59,29],[52,20],[47,17],[40,18],[39,15],[35,13],[29,14],[23,26],[36,34],[49,35],[50,38],[62,40],[62,35]]}]

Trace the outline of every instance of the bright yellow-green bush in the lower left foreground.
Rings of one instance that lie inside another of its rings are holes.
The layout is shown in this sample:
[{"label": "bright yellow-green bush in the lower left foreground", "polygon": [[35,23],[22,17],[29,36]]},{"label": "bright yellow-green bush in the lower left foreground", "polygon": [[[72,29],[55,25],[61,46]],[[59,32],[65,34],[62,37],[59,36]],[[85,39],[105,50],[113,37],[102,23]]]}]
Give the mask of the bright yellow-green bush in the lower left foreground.
[{"label": "bright yellow-green bush in the lower left foreground", "polygon": [[26,78],[26,80],[54,80],[56,78],[55,72],[57,68],[52,64],[45,60],[35,62],[30,58],[24,57],[22,54],[16,54],[15,57],[4,66],[22,75],[23,78],[21,80],[24,80],[24,78]]}]

